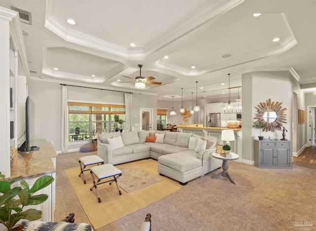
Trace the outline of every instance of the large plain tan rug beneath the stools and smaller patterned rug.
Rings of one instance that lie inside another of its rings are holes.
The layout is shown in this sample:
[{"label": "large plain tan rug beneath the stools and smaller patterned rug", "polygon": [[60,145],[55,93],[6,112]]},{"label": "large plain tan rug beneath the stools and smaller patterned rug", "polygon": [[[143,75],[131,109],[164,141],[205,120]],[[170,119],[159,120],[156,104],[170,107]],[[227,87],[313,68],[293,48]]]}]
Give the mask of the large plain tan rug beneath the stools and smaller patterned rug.
[{"label": "large plain tan rug beneath the stools and smaller patterned rug", "polygon": [[[137,165],[151,174],[159,176],[157,172],[158,162],[153,159],[134,161],[127,164],[116,165],[116,167],[120,169],[121,167],[130,165]],[[79,167],[67,169],[65,173],[91,225],[96,230],[183,187],[177,181],[162,177],[164,180],[156,184],[143,187],[130,193],[122,191],[122,195],[119,195],[116,184],[104,184],[98,186],[101,199],[101,203],[98,203],[95,190],[90,191],[93,182],[90,175],[87,174],[88,171],[85,172],[85,185],[83,184],[82,178],[78,177],[80,173]]]}]

